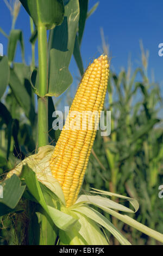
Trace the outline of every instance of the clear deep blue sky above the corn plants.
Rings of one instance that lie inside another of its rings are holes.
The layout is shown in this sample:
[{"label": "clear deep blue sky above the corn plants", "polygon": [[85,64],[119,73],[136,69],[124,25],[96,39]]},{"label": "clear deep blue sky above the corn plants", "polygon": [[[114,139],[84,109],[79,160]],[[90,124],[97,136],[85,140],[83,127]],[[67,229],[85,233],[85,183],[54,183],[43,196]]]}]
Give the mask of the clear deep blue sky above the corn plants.
[{"label": "clear deep blue sky above the corn plants", "polygon": [[[97,0],[90,0],[89,9],[96,2]],[[100,28],[103,28],[113,57],[111,62],[113,70],[118,73],[122,67],[127,68],[129,56],[131,56],[133,70],[140,66],[139,40],[141,39],[144,48],[149,50],[148,74],[150,76],[153,70],[155,80],[162,86],[163,57],[158,55],[158,45],[163,43],[162,8],[162,0],[100,0],[96,12],[86,22],[81,48],[84,67],[86,68],[93,57],[99,55],[99,47],[102,46]],[[0,1],[0,27],[9,34],[11,16],[3,0]],[[23,7],[18,15],[16,28],[23,31],[26,62],[29,64],[31,53],[29,17]],[[4,46],[4,54],[7,53],[7,39],[1,33],[0,43]],[[21,61],[19,50],[16,61]],[[70,64],[70,72],[75,81],[79,72],[73,59]]]}]

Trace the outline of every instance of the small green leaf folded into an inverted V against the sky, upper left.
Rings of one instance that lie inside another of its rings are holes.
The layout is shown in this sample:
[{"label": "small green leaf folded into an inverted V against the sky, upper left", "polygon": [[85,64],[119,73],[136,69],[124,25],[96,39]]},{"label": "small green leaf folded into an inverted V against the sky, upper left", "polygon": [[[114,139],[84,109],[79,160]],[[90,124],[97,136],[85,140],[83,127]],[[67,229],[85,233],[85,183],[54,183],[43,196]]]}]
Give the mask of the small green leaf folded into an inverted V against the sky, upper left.
[{"label": "small green leaf folded into an inverted V against the sky, upper left", "polygon": [[20,41],[22,61],[24,62],[24,42],[22,31],[20,29],[12,29],[10,32],[8,44],[8,59],[10,63],[14,61],[18,41]]}]

